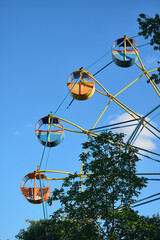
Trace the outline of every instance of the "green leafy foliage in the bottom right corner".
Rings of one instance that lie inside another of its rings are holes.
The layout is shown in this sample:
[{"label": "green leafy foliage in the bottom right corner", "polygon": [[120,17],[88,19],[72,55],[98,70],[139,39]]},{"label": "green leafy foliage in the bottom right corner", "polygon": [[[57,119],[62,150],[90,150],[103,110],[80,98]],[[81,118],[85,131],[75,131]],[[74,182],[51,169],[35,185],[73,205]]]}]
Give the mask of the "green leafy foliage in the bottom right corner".
[{"label": "green leafy foliage in the bottom right corner", "polygon": [[160,234],[160,216],[139,216],[131,209],[125,209],[117,213],[116,228],[114,236],[109,240],[158,240]]}]

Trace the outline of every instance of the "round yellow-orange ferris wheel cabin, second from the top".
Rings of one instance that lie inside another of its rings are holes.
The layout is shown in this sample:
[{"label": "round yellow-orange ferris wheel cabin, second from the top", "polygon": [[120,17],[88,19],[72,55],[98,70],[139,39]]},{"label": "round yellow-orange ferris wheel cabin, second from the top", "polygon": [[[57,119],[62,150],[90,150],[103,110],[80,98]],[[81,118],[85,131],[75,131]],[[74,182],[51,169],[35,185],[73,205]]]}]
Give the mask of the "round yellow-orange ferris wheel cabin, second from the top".
[{"label": "round yellow-orange ferris wheel cabin, second from the top", "polygon": [[95,92],[95,82],[90,72],[79,69],[71,73],[67,79],[67,86],[71,96],[77,100],[86,100]]}]

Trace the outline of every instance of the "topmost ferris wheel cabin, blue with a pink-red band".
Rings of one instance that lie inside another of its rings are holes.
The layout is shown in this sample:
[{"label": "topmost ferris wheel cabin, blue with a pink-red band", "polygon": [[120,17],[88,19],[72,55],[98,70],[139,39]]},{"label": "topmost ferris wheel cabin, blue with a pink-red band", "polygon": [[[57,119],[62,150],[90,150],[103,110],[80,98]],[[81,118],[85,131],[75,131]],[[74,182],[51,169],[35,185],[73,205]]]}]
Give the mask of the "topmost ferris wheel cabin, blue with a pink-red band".
[{"label": "topmost ferris wheel cabin, blue with a pink-red band", "polygon": [[[112,59],[114,63],[120,67],[131,67],[138,59],[139,47],[135,40],[129,38],[129,41],[125,38],[117,39],[112,45]],[[137,53],[137,54],[136,54]]]}]

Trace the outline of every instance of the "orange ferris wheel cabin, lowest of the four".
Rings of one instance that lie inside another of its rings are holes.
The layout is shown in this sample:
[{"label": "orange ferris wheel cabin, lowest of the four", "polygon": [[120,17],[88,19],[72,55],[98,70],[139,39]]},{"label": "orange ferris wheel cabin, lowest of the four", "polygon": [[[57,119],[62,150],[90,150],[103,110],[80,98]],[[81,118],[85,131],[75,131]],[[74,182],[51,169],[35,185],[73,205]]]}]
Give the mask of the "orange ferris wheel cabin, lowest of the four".
[{"label": "orange ferris wheel cabin, lowest of the four", "polygon": [[39,168],[37,172],[31,172],[22,179],[20,188],[23,196],[33,204],[45,202],[51,194],[49,180],[43,173],[39,173]]}]

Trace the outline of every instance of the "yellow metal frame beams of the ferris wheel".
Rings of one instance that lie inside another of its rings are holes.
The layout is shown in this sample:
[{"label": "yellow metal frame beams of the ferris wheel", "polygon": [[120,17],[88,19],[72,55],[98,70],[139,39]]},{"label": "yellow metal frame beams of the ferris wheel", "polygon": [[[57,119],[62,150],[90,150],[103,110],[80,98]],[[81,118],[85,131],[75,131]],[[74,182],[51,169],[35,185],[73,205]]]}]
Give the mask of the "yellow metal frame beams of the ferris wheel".
[{"label": "yellow metal frame beams of the ferris wheel", "polygon": [[[158,88],[158,86],[156,85],[156,83],[150,78],[150,75],[149,75],[149,73],[154,72],[154,71],[157,71],[157,68],[154,69],[154,70],[146,71],[146,69],[145,69],[145,67],[144,67],[144,65],[143,65],[143,63],[142,63],[142,61],[141,61],[141,59],[140,59],[140,57],[139,57],[139,54],[137,53],[136,49],[134,48],[134,46],[133,46],[133,44],[131,43],[131,41],[129,40],[129,38],[126,37],[126,35],[124,36],[124,50],[125,50],[125,56],[124,56],[125,59],[124,59],[124,60],[126,60],[126,41],[128,41],[128,42],[130,43],[131,47],[133,48],[133,50],[134,50],[134,52],[135,52],[135,54],[136,54],[136,56],[137,56],[137,58],[138,58],[138,60],[139,60],[139,62],[140,62],[140,65],[138,65],[137,63],[135,63],[135,64],[136,64],[136,66],[142,71],[142,74],[141,74],[138,78],[136,78],[134,81],[132,81],[130,84],[128,84],[126,87],[124,87],[122,90],[120,90],[120,91],[119,91],[117,94],[115,94],[114,96],[113,96],[111,93],[109,93],[109,92],[106,90],[106,88],[105,88],[100,82],[98,82],[98,81],[93,77],[93,75],[92,75],[91,73],[89,73],[88,71],[86,71],[86,70],[77,70],[77,71],[75,71],[75,72],[81,71],[82,73],[83,73],[83,72],[87,73],[87,74],[93,79],[93,81],[94,81],[98,86],[100,86],[100,88],[102,89],[102,91],[100,91],[100,90],[98,90],[98,89],[95,89],[95,87],[94,87],[94,91],[92,91],[92,92],[89,93],[89,94],[86,94],[86,98],[85,98],[85,99],[90,98],[90,97],[94,94],[95,91],[98,92],[99,94],[105,96],[105,97],[108,97],[108,98],[110,99],[110,100],[108,101],[107,105],[105,106],[104,110],[103,110],[102,113],[100,114],[99,118],[97,119],[97,121],[96,121],[95,124],[93,125],[92,130],[94,130],[94,128],[96,127],[96,125],[98,124],[98,122],[100,121],[101,117],[103,116],[103,114],[105,113],[105,111],[107,110],[108,106],[110,105],[110,103],[111,103],[112,101],[115,102],[118,106],[120,106],[124,111],[126,111],[126,112],[127,112],[129,115],[131,115],[133,118],[135,118],[135,119],[138,118],[139,120],[137,120],[137,121],[140,121],[140,120],[141,120],[141,116],[140,116],[139,114],[135,113],[135,112],[134,112],[132,109],[130,109],[129,107],[127,107],[127,106],[126,106],[124,103],[122,103],[120,100],[118,100],[118,99],[117,99],[117,96],[118,96],[119,94],[121,94],[123,91],[125,91],[126,89],[128,89],[132,84],[134,84],[136,81],[138,81],[138,80],[139,80],[141,77],[143,77],[144,75],[147,77],[147,79],[148,79],[149,82],[151,83],[151,86],[153,87],[153,89],[155,90],[155,92],[157,93],[157,95],[160,97],[160,89]],[[71,73],[71,74],[72,74],[72,73]],[[69,77],[71,76],[71,74],[69,75]],[[80,75],[81,75],[81,74],[80,74]],[[68,79],[69,79],[69,77],[68,77]],[[69,84],[69,83],[68,83],[68,79],[67,79],[67,85]],[[81,81],[81,77],[80,77],[80,81]],[[70,92],[70,93],[71,93],[71,96],[72,96],[73,98],[78,99],[77,97],[74,96],[74,93],[72,93],[72,92]],[[84,99],[78,99],[78,100],[84,100]],[[52,118],[52,117],[58,118],[58,119],[60,119],[61,121],[64,121],[64,122],[66,122],[66,123],[68,123],[68,124],[71,124],[72,126],[78,128],[78,130],[72,130],[72,129],[64,128],[64,127],[63,127],[63,129],[66,130],[66,131],[70,131],[70,132],[74,132],[74,133],[87,134],[87,136],[88,136],[88,137],[87,137],[87,142],[89,141],[90,136],[97,137],[97,136],[99,135],[99,134],[94,133],[92,130],[86,130],[86,129],[78,126],[77,124],[72,123],[72,122],[70,122],[70,121],[68,121],[68,120],[65,120],[65,119],[63,119],[63,118],[56,117],[56,116],[54,116],[54,115],[50,115],[50,118]],[[49,125],[49,126],[48,126],[48,131],[50,130],[50,118],[49,118],[49,123],[48,123],[48,125]],[[57,124],[52,124],[52,125],[55,125],[56,127],[61,128],[61,126],[58,126]],[[143,126],[145,127],[145,125],[146,125],[146,120],[144,119],[144,121],[143,121]],[[111,143],[112,143],[112,142],[111,142]],[[112,144],[113,144],[113,143],[112,143]],[[121,146],[121,147],[124,148],[125,146]],[[128,148],[129,148],[129,147],[130,147],[130,146],[128,146]],[[86,154],[86,151],[87,151],[87,149],[85,149],[84,154]],[[86,178],[86,177],[88,177],[88,176],[90,175],[90,174],[83,174],[83,173],[82,173],[82,172],[83,172],[83,165],[84,165],[84,163],[82,162],[81,169],[80,169],[80,173],[77,174],[77,177],[79,177],[79,178],[80,178],[80,181],[81,181],[81,190],[82,190],[82,192],[83,192],[83,182],[82,182],[82,179],[83,179],[83,178]],[[59,173],[59,174],[66,174],[66,175],[68,175],[68,176],[69,176],[69,175],[74,175],[74,173],[70,173],[70,172],[66,172],[66,171],[41,170],[41,171],[39,171],[39,172]],[[66,178],[68,178],[68,177],[48,178],[48,180],[65,180]],[[84,203],[84,204],[85,204],[85,203]]]}]

